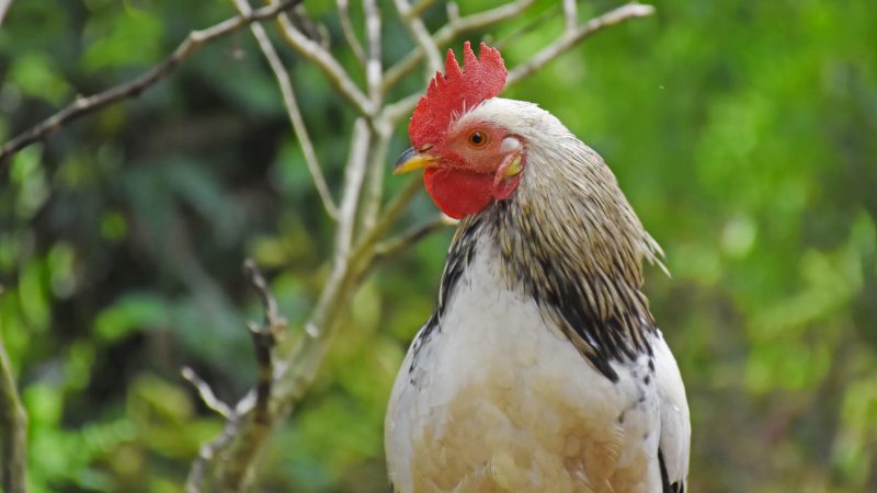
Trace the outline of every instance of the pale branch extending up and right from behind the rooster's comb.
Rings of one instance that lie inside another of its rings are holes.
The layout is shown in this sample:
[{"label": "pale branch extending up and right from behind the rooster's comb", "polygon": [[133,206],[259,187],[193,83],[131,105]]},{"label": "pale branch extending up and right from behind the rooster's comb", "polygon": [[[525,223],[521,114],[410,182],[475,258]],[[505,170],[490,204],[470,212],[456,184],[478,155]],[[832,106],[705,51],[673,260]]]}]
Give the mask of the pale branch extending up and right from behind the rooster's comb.
[{"label": "pale branch extending up and right from behind the rooster's comb", "polygon": [[525,77],[532,74],[536,70],[543,68],[546,64],[562,55],[568,49],[581,43],[588,36],[601,31],[604,27],[618,24],[620,22],[645,18],[654,13],[654,7],[640,3],[628,3],[617,9],[611,10],[599,18],[591,19],[584,25],[577,27],[573,31],[567,31],[554,43],[543,48],[533,58],[525,64],[519,65],[511,72],[509,72],[508,84],[513,84]]}]

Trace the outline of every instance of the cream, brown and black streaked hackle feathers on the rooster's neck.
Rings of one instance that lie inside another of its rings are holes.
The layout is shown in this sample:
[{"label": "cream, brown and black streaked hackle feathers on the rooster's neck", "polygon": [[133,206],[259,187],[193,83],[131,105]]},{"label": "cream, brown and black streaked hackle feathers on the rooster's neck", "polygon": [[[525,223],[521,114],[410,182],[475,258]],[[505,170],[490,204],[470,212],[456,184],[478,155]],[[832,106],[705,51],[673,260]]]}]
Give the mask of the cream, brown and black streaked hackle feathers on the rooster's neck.
[{"label": "cream, brown and black streaked hackle feathers on the rooster's neck", "polygon": [[612,360],[651,353],[642,259],[658,262],[661,251],[600,156],[557,118],[532,110],[539,113],[522,128],[521,186],[460,223],[448,265],[455,251],[470,255],[472,238],[488,234],[509,288],[532,296],[546,322],[614,380]]}]

